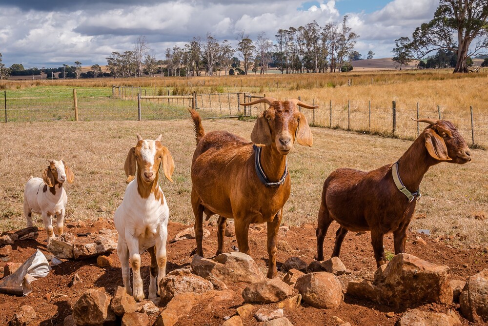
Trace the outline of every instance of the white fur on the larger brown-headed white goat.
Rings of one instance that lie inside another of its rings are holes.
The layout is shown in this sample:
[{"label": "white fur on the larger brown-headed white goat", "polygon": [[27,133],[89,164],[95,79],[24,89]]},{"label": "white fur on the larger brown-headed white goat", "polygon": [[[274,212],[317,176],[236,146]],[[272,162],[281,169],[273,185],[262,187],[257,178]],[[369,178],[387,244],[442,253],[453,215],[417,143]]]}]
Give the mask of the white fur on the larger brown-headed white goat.
[{"label": "white fur on the larger brown-headed white goat", "polygon": [[[144,151],[142,151],[143,153]],[[141,155],[144,155],[142,154]],[[152,162],[154,164],[154,150]],[[158,262],[158,277],[151,275],[149,298],[157,296],[158,285],[166,275],[166,240],[168,237],[169,208],[163,195],[164,204],[156,200],[154,194],[143,199],[137,190],[137,178],[127,185],[122,204],[117,208],[114,222],[119,232],[117,253],[122,264],[122,278],[127,293],[133,295],[137,301],[144,299],[142,278],[140,273],[141,254],[156,245],[156,260]],[[133,272],[133,287],[130,286],[130,267]],[[157,281],[157,283],[156,283]]]}]

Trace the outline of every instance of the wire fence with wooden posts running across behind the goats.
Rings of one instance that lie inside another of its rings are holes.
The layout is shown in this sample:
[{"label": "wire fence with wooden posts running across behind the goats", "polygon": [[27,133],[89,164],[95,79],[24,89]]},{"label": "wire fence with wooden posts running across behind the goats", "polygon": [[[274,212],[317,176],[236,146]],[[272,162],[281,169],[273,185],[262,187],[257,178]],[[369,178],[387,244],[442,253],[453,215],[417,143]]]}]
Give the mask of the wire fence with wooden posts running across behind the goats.
[{"label": "wire fence with wooden posts running across behind the goats", "polygon": [[[135,96],[134,91],[137,91]],[[252,106],[242,106],[239,103],[264,96],[265,94],[238,92],[193,93],[181,96],[154,87],[114,86],[112,90],[79,88],[76,91],[66,87],[57,89],[53,94],[5,91],[3,94],[0,93],[0,110],[4,111],[5,122],[74,121],[76,113],[80,121],[175,120],[188,118],[186,108],[193,105],[203,118],[229,118],[257,116],[264,111],[264,103]],[[470,107],[469,104],[451,107],[401,101],[311,102],[319,105],[319,108],[301,109],[311,125],[413,139],[422,132],[425,125],[413,121],[412,118],[443,119],[453,122],[471,145],[488,147],[488,110]]]}]

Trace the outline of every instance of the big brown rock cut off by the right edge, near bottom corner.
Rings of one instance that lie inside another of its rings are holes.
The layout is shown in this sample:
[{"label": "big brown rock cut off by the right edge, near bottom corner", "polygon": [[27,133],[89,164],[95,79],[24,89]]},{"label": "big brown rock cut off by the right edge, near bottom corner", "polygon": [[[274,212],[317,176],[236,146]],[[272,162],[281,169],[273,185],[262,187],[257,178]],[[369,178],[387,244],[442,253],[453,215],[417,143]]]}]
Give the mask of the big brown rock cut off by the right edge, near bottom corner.
[{"label": "big brown rock cut off by the right edge, near bottom corner", "polygon": [[488,323],[488,268],[468,278],[459,303],[469,321]]}]

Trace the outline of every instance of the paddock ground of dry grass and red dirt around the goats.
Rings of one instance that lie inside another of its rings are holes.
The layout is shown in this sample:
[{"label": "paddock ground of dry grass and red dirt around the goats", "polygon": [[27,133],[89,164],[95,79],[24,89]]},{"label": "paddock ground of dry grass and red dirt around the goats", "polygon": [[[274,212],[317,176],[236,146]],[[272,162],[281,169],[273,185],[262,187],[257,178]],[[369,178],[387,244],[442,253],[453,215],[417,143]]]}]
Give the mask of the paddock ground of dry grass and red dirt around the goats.
[{"label": "paddock ground of dry grass and red dirt around the goats", "polygon": [[[206,131],[225,129],[249,138],[253,123],[235,120],[204,121]],[[135,142],[136,132],[144,138],[155,138],[163,134],[163,145],[167,146],[175,161],[174,183],[162,182],[164,194],[170,207],[169,239],[186,228],[183,224],[193,223],[190,206],[190,163],[195,148],[194,133],[188,120],[166,122],[18,122],[2,124],[0,146],[0,175],[5,181],[0,188],[0,229],[12,230],[25,226],[22,214],[23,186],[30,175],[39,176],[46,159],[64,159],[75,173],[75,183],[67,185],[68,205],[65,221],[94,221],[103,218],[110,221],[113,211],[122,201],[125,190],[125,175],[122,170],[126,152]],[[292,177],[292,193],[284,208],[283,223],[290,225],[290,231],[279,238],[290,245],[278,250],[278,262],[283,264],[288,257],[299,256],[307,263],[316,254],[315,225],[320,204],[320,193],[326,176],[342,166],[369,170],[394,162],[410,145],[410,141],[381,138],[349,133],[340,130],[312,128],[312,148],[295,146],[289,155],[289,170]],[[416,255],[435,264],[451,268],[453,279],[466,279],[488,267],[486,243],[488,228],[488,184],[486,164],[488,153],[472,150],[472,162],[458,166],[441,164],[432,167],[426,174],[421,191],[423,197],[417,205],[416,218],[408,233],[407,253]],[[35,225],[42,226],[40,216],[34,216]],[[178,224],[181,223],[181,224]],[[210,256],[216,249],[216,227],[206,226],[211,235],[203,241],[204,251]],[[331,253],[334,231],[332,224],[325,240],[325,255]],[[424,237],[426,247],[413,245],[411,240],[417,229],[430,229],[432,235]],[[73,233],[83,229],[67,229]],[[385,239],[388,251],[393,251],[392,236]],[[39,247],[46,252],[45,232],[37,241],[13,246],[10,261],[23,262]],[[235,239],[227,237],[224,252],[232,251]],[[267,253],[265,233],[251,231],[252,257],[264,272]],[[453,248],[447,247],[447,245]],[[168,271],[186,266],[195,248],[194,240],[168,244]],[[19,250],[20,249],[20,250]],[[120,263],[116,253],[111,258],[115,268],[105,270],[96,265],[94,259],[69,261],[54,268],[45,279],[33,283],[33,292],[24,298],[0,294],[0,324],[7,323],[22,305],[31,305],[38,314],[40,325],[62,325],[64,317],[70,314],[71,306],[88,288],[105,287],[110,294],[117,285],[122,285]],[[341,259],[352,274],[360,278],[375,268],[369,234],[355,235],[350,232],[344,242]],[[143,255],[143,280],[147,288],[149,257]],[[0,262],[2,270],[5,262]],[[83,283],[68,287],[74,273]],[[283,276],[283,273],[280,273]],[[224,316],[231,316],[235,308],[242,305],[240,291],[221,306],[196,306],[181,325],[218,325]],[[147,295],[147,294],[146,294]],[[273,305],[270,305],[273,306]],[[445,312],[446,306],[425,305],[423,310]],[[300,307],[286,317],[294,325],[306,325],[310,318],[322,324],[332,324],[332,316],[338,316],[353,325],[394,325],[401,314],[387,318],[392,310],[386,306],[367,301],[358,301],[346,295],[345,302],[337,309],[320,310]],[[198,319],[192,319],[197,317]],[[154,320],[156,316],[151,316]],[[255,321],[254,321],[255,322]],[[463,320],[467,323],[466,320]]]}]

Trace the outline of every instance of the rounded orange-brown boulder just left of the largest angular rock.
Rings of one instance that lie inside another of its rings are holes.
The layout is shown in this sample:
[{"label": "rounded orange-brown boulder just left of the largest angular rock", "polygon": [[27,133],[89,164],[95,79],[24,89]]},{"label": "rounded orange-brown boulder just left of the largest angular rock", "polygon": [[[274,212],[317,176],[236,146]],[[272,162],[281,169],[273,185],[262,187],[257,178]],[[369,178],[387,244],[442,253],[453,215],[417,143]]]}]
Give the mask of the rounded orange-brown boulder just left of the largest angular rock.
[{"label": "rounded orange-brown boulder just left of the largest angular rock", "polygon": [[308,305],[316,308],[337,308],[344,299],[341,282],[332,273],[306,274],[297,280],[295,288]]}]

